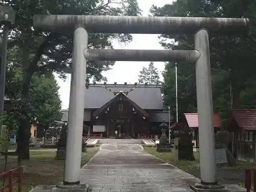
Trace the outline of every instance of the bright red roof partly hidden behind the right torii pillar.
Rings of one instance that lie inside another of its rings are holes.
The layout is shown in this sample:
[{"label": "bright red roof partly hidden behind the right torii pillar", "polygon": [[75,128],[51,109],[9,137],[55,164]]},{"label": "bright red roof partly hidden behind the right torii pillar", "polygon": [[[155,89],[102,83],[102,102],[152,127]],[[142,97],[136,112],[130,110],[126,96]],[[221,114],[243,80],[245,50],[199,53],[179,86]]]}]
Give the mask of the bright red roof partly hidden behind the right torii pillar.
[{"label": "bright red roof partly hidden behind the right torii pillar", "polygon": [[[184,113],[189,127],[198,127],[197,113]],[[219,114],[214,114],[214,127],[220,127],[221,119]]]}]

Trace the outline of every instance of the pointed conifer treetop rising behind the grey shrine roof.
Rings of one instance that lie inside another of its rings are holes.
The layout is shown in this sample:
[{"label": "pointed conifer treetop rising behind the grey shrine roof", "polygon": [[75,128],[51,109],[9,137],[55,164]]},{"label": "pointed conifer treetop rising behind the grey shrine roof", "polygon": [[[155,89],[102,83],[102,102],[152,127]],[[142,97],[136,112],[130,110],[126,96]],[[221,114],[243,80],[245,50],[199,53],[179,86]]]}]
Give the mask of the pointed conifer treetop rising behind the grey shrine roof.
[{"label": "pointed conifer treetop rising behind the grey shrine roof", "polygon": [[154,66],[154,62],[150,62],[148,68],[143,67],[139,74],[139,83],[159,84],[159,72]]}]

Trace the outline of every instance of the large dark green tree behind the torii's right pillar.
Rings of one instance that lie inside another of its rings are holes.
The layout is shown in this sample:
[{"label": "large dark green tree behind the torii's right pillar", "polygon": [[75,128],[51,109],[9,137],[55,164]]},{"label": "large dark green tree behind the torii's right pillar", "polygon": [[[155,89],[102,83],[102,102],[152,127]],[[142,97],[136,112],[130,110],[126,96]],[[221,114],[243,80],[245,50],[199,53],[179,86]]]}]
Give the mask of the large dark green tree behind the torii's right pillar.
[{"label": "large dark green tree behind the torii's right pillar", "polygon": [[[251,20],[248,35],[215,36],[215,34],[210,34],[214,107],[215,111],[221,111],[223,114],[228,114],[230,110],[230,84],[232,107],[241,108],[244,105],[241,94],[252,86],[255,79],[253,74],[256,60],[255,10],[256,5],[251,1],[239,0],[177,0],[164,7],[153,6],[151,9],[155,16],[247,17]],[[162,35],[161,37],[163,38],[161,44],[165,49],[194,49],[193,36],[180,34]],[[174,40],[169,43],[166,39]],[[172,63],[167,65],[170,65],[167,69],[172,68]],[[190,81],[195,83],[194,67],[191,68],[185,63],[184,65],[178,63],[178,66],[180,81],[182,79],[187,83]],[[172,75],[167,71],[165,73],[165,76]],[[185,80],[188,77],[190,79]],[[165,87],[165,89],[169,88]],[[186,92],[181,94],[185,96],[185,99],[191,99],[191,104],[194,105],[196,94],[194,85],[191,84]],[[165,98],[168,98],[168,95],[165,95]],[[184,101],[182,98],[179,99],[181,102]]]}]

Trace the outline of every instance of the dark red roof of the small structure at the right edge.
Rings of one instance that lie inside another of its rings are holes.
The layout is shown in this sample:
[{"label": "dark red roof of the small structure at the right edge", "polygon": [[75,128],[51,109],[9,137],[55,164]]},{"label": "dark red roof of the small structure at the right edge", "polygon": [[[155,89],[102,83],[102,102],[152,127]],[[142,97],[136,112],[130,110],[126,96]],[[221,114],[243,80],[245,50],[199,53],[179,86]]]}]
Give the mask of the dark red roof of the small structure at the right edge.
[{"label": "dark red roof of the small structure at the right edge", "polygon": [[238,125],[242,129],[256,131],[256,110],[232,110],[231,117],[238,123]]}]

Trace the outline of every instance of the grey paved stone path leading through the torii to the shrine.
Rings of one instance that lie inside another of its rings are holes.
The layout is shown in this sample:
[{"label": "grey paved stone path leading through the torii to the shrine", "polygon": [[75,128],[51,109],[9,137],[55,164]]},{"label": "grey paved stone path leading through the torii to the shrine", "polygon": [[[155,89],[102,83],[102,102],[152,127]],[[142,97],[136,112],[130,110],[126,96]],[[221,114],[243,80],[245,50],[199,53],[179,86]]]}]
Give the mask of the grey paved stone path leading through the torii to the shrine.
[{"label": "grey paved stone path leading through the torii to the shrine", "polygon": [[82,168],[81,183],[92,191],[192,191],[195,177],[143,151],[139,144],[102,144]]}]

